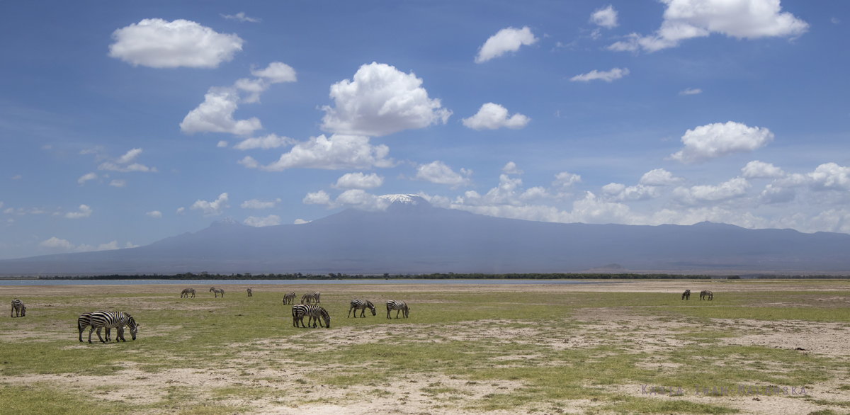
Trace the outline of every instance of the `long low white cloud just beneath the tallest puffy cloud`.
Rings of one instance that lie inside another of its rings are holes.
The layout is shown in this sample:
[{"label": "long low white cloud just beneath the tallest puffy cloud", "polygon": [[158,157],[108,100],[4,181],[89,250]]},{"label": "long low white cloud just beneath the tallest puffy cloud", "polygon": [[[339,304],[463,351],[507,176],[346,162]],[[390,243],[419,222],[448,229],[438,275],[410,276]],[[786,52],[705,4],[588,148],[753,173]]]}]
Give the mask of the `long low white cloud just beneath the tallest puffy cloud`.
[{"label": "long low white cloud just beneath the tallest puffy cloud", "polygon": [[333,134],[311,137],[308,141],[292,146],[292,150],[280,156],[280,160],[268,166],[260,166],[251,156],[240,162],[247,168],[260,168],[269,172],[281,172],[287,168],[388,168],[394,166],[393,159],[386,158],[389,147],[370,145],[369,137],[362,135]]}]

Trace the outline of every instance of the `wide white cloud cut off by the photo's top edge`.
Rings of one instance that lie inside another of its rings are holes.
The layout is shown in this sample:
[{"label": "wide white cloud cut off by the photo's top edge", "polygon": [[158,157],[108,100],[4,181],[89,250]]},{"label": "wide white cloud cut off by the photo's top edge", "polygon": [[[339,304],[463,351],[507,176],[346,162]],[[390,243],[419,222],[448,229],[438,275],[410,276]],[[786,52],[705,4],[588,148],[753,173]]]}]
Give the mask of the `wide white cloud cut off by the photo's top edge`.
[{"label": "wide white cloud cut off by the photo's top edge", "polygon": [[632,33],[611,50],[655,52],[674,48],[692,37],[721,33],[739,39],[797,37],[808,31],[808,23],[782,13],[779,0],[660,0],[666,3],[664,22],[655,35]]}]

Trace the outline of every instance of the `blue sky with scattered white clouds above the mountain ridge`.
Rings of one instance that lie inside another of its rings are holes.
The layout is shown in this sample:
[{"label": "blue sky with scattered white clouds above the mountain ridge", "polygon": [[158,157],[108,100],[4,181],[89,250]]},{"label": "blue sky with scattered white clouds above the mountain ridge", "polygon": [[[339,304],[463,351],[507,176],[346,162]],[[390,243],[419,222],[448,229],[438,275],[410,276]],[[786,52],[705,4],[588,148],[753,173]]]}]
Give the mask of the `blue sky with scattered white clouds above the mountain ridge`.
[{"label": "blue sky with scattered white clouds above the mountain ridge", "polygon": [[850,3],[16,2],[0,259],[379,196],[850,233]]}]

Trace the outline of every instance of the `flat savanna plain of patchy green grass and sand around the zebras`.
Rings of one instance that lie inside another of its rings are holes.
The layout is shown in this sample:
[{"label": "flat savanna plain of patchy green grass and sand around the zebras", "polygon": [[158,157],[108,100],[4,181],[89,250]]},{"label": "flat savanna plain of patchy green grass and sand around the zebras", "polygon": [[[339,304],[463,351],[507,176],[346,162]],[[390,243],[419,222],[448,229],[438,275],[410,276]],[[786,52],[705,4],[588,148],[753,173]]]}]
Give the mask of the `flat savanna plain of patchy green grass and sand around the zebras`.
[{"label": "flat savanna plain of patchy green grass and sand around the zebras", "polygon": [[[850,281],[216,287],[0,287],[27,307],[0,318],[0,412],[850,413]],[[290,291],[320,291],[331,327],[292,327]],[[95,310],[139,337],[80,343]]]}]

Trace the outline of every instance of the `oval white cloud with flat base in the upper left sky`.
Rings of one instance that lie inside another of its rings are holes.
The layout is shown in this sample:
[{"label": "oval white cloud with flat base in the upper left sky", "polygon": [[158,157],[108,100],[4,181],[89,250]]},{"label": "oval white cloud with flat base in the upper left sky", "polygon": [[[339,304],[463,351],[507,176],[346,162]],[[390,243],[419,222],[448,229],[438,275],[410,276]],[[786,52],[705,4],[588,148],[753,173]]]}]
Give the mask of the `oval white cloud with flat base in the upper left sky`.
[{"label": "oval white cloud with flat base in the upper left sky", "polygon": [[152,68],[215,68],[233,60],[242,39],[190,20],[145,19],[112,32],[109,55],[130,65]]}]

